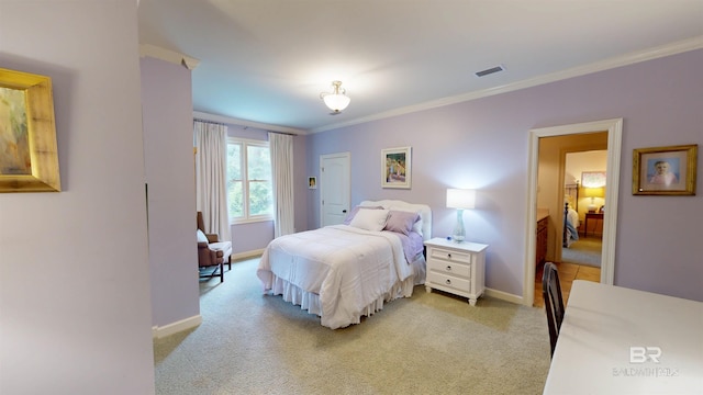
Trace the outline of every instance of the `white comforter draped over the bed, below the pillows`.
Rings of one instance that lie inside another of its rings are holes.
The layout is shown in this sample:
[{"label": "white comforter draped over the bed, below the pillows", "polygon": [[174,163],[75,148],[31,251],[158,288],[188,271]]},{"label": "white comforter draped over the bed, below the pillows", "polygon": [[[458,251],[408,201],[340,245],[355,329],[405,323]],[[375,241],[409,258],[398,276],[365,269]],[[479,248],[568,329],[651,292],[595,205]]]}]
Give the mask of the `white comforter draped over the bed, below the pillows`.
[{"label": "white comforter draped over the bed, below the pillows", "polygon": [[265,291],[279,278],[317,294],[321,324],[332,329],[358,321],[369,304],[412,274],[394,233],[346,225],[275,239],[257,270]]}]

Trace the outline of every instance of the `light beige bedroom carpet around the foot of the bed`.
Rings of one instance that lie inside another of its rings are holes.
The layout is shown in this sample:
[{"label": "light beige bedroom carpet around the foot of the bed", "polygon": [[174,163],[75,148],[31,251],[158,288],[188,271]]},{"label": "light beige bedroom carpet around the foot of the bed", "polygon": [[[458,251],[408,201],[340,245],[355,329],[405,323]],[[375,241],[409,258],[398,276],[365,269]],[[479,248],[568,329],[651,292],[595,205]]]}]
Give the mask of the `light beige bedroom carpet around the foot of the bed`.
[{"label": "light beige bedroom carpet around the foot of the bed", "polygon": [[476,307],[415,287],[361,324],[331,330],[264,295],[258,259],[201,283],[203,323],[154,341],[157,394],[542,394],[542,308]]}]

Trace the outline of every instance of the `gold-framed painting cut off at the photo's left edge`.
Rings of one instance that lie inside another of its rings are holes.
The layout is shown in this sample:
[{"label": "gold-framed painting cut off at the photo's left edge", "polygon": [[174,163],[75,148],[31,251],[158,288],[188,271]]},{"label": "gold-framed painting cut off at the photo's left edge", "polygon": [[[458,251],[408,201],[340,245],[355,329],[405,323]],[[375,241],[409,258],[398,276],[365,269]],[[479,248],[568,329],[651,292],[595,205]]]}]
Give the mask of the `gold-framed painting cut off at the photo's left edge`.
[{"label": "gold-framed painting cut off at the photo's left edge", "polygon": [[52,79],[0,68],[0,192],[59,192]]}]

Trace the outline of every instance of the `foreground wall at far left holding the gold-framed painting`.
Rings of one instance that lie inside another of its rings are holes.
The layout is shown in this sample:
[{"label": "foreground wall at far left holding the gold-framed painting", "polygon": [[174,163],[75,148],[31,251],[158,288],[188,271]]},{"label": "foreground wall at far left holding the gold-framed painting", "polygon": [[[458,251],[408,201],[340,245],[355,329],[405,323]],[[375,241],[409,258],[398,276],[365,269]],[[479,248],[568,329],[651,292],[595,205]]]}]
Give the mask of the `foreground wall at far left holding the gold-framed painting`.
[{"label": "foreground wall at far left holding the gold-framed painting", "polygon": [[0,194],[0,393],[153,394],[136,2],[0,1],[49,76],[63,192]]}]

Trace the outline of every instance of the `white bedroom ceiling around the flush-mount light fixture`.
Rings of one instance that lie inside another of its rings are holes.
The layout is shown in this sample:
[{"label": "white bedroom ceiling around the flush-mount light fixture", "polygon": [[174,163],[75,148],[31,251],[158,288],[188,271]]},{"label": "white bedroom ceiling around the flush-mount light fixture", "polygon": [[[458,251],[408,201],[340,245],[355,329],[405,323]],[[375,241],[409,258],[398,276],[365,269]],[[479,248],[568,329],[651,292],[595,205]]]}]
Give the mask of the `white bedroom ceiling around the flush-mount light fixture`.
[{"label": "white bedroom ceiling around the flush-mount light fixture", "polygon": [[[194,111],[305,132],[703,47],[703,0],[141,0],[138,12],[141,44],[200,60]],[[352,98],[338,115],[320,99],[333,80]]]}]

